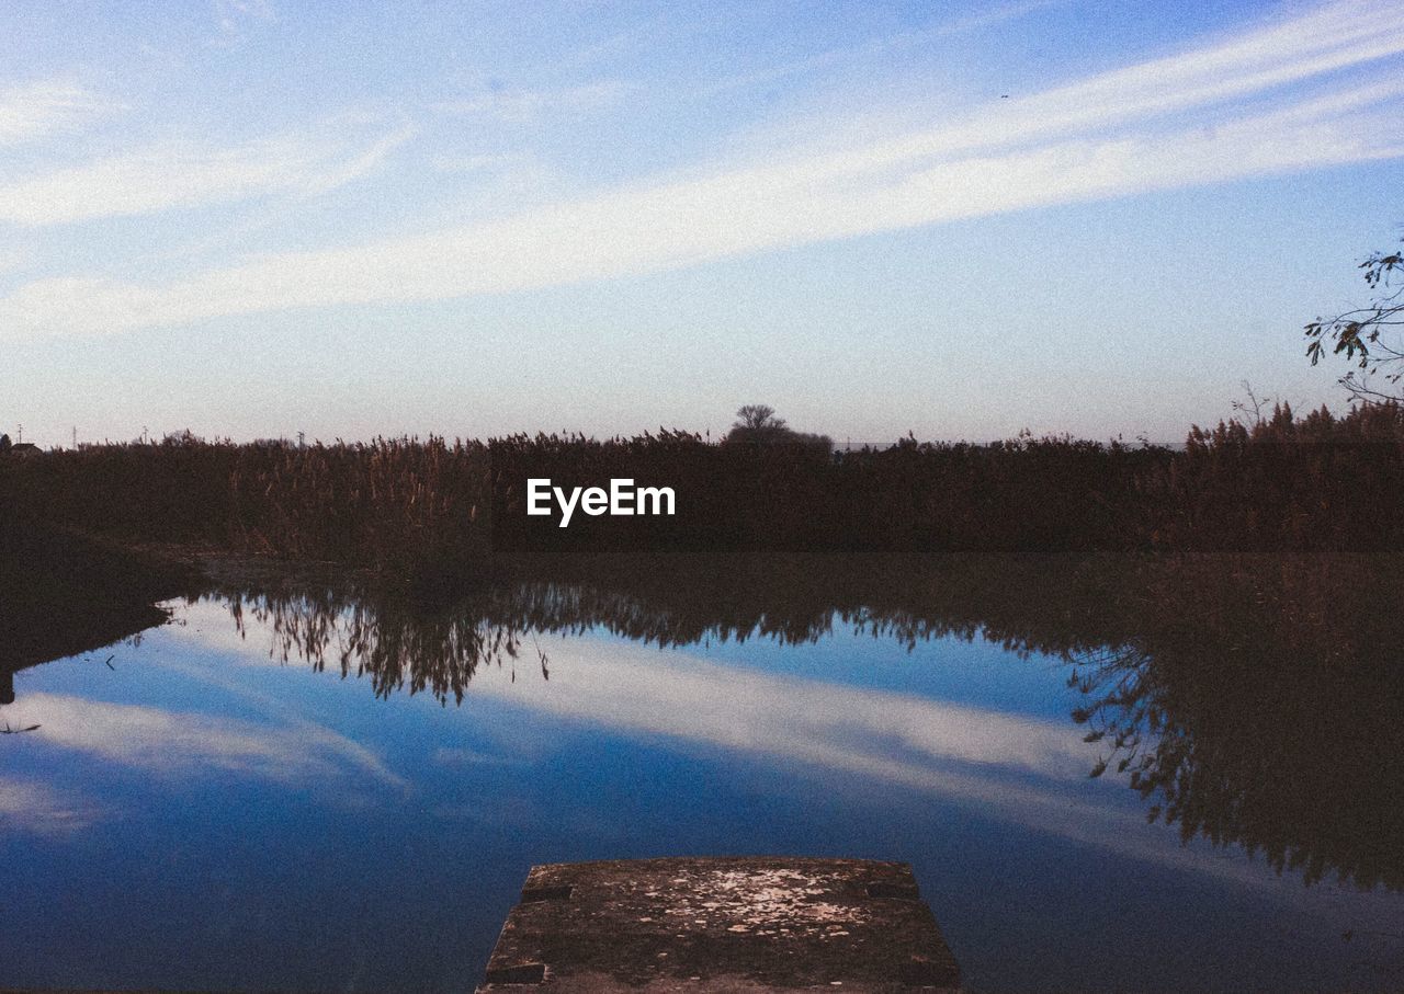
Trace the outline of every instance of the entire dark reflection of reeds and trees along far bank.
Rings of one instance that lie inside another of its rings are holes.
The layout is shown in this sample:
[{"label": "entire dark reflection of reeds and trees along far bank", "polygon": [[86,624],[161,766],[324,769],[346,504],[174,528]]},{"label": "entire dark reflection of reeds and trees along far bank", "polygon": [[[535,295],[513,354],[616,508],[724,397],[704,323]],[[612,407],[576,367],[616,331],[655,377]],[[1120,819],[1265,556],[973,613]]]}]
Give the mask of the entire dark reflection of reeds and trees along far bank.
[{"label": "entire dark reflection of reeds and trees along far bank", "polygon": [[[1404,614],[1387,568],[1344,559],[920,566],[893,559],[594,558],[522,569],[449,606],[373,590],[223,590],[272,653],[462,701],[538,635],[658,646],[835,629],[915,646],[983,638],[1074,665],[1094,770],[1129,777],[1185,840],[1241,844],[1307,882],[1404,889]],[[514,670],[515,677],[515,670]]]}]

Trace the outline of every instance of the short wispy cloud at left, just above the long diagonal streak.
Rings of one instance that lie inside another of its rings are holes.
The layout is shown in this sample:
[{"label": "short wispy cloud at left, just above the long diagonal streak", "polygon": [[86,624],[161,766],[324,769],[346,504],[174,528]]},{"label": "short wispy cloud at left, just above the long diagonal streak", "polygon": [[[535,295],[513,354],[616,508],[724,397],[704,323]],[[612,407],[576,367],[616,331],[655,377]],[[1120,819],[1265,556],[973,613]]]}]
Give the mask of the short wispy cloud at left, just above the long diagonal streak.
[{"label": "short wispy cloud at left, just above the long diagonal streak", "polygon": [[277,137],[236,147],[161,144],[0,184],[0,222],[31,227],[149,215],[261,193],[322,193],[373,170],[413,136],[365,146]]}]

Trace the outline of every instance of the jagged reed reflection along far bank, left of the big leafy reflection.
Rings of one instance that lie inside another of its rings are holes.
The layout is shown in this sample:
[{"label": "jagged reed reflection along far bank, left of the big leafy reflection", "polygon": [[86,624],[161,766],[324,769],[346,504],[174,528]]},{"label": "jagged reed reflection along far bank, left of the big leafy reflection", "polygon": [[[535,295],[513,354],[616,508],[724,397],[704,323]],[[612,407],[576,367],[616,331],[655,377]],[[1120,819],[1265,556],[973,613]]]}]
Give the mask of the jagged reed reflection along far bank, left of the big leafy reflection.
[{"label": "jagged reed reflection along far bank, left of the big leafy reflection", "polygon": [[[543,578],[545,576],[545,578]],[[549,679],[536,635],[605,631],[664,648],[769,638],[816,642],[837,627],[914,648],[955,635],[1016,652],[1092,645],[1075,601],[1094,576],[1061,565],[1001,562],[942,572],[911,562],[813,557],[703,557],[640,562],[592,557],[501,578],[445,603],[337,583],[219,585],[236,627],[272,631],[272,658],[369,677],[379,697],[428,691],[462,702],[479,666],[528,659]],[[515,670],[514,670],[515,679]]]}]

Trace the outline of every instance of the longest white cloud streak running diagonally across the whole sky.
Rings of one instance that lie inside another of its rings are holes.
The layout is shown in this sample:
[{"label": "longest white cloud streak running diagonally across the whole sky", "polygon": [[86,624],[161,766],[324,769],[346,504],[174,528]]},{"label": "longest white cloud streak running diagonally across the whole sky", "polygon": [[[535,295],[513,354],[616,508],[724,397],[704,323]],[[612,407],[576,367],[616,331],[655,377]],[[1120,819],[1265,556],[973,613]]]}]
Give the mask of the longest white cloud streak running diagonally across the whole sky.
[{"label": "longest white cloud streak running diagonally across the whole sky", "polygon": [[661,177],[418,237],[268,255],[168,283],[32,282],[0,299],[0,336],[526,290],[1396,157],[1404,154],[1397,62],[1389,72],[1348,70],[1401,52],[1397,7],[1334,3],[837,151],[781,149],[760,164]]}]

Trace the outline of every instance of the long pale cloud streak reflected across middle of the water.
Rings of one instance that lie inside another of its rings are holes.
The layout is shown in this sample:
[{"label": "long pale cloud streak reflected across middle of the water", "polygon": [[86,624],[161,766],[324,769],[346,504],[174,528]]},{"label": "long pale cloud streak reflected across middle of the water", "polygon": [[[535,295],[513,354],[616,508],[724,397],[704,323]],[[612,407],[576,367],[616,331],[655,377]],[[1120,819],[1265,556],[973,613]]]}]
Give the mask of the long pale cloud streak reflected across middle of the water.
[{"label": "long pale cloud streak reflected across middle of the water", "polygon": [[1276,883],[1226,854],[1186,850],[1139,812],[1115,806],[1113,785],[1088,785],[1095,753],[1071,725],[731,669],[614,641],[556,642],[550,658],[549,683],[510,683],[487,670],[479,672],[473,693],[900,785],[1122,857],[1254,886]]}]

